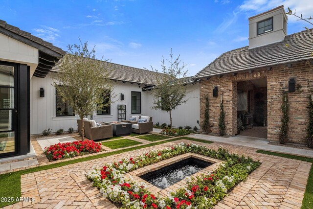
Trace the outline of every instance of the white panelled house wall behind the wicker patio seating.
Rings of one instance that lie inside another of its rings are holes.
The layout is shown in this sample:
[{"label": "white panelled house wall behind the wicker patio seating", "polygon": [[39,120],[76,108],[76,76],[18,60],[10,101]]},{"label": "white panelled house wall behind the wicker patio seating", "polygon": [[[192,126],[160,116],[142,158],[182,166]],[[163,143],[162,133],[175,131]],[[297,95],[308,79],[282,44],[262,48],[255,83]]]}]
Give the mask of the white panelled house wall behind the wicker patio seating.
[{"label": "white panelled house wall behind the wicker patio seating", "polygon": [[[163,122],[169,123],[169,115],[165,111],[151,110],[153,98],[151,92],[142,92],[137,84],[114,83],[115,87],[113,93],[116,94],[112,98],[111,115],[94,114],[92,117],[97,122],[116,121],[117,120],[117,105],[126,105],[126,119],[132,115],[140,116],[153,116],[154,123]],[[141,86],[142,87],[142,86]],[[45,89],[45,97],[39,96],[40,88]],[[131,113],[131,92],[141,92],[141,114]],[[188,86],[188,102],[179,106],[177,110],[173,111],[173,125],[185,126],[190,125],[198,126],[200,103],[199,103],[199,84]],[[120,94],[124,94],[124,100],[120,100]],[[52,87],[52,79],[50,74],[46,78],[33,77],[30,82],[30,132],[31,134],[41,134],[45,129],[52,129],[52,132],[63,128],[65,131],[69,127],[77,130],[77,116],[63,116],[56,117],[56,101],[55,101],[55,88]]]}]

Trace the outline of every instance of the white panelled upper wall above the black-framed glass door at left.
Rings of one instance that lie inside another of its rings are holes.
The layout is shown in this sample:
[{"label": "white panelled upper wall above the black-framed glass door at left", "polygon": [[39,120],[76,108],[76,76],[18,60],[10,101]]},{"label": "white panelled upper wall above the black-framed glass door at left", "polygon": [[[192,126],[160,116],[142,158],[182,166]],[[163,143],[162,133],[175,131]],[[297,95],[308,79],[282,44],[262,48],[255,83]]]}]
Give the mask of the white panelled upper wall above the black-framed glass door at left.
[{"label": "white panelled upper wall above the black-framed glass door at left", "polygon": [[0,60],[30,66],[30,76],[38,65],[38,49],[0,33]]}]

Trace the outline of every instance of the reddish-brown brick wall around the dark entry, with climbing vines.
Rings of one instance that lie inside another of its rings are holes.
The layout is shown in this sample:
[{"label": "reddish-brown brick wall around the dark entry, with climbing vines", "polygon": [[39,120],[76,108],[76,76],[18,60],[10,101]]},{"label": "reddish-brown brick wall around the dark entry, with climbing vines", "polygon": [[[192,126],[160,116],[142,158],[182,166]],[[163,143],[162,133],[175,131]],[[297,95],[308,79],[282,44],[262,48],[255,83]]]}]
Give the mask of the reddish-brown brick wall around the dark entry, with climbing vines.
[{"label": "reddish-brown brick wall around the dark entry, with climbing vines", "polygon": [[[289,139],[290,142],[303,143],[306,135],[306,122],[308,121],[307,103],[309,88],[313,87],[313,70],[305,62],[293,63],[291,68],[287,66],[273,67],[272,70],[260,69],[253,72],[243,72],[236,75],[224,75],[222,78],[211,77],[209,80],[201,80],[200,84],[200,122],[204,116],[204,96],[209,97],[209,116],[211,133],[218,134],[218,118],[220,115],[221,94],[223,94],[225,124],[227,135],[237,134],[237,84],[240,81],[267,78],[267,111],[268,111],[268,139],[277,141],[281,125],[280,106],[281,91],[288,91],[289,78],[296,78],[296,85],[300,90],[288,93],[290,103]],[[213,97],[213,88],[218,86],[219,96]]]}]

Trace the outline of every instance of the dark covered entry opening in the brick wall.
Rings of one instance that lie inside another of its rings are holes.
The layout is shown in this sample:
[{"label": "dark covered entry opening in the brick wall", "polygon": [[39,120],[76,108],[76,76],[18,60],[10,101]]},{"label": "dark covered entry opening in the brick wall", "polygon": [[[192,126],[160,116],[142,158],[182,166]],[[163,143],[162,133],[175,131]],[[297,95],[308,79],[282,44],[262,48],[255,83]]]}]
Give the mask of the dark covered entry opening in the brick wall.
[{"label": "dark covered entry opening in the brick wall", "polygon": [[237,82],[237,133],[267,139],[267,79]]}]

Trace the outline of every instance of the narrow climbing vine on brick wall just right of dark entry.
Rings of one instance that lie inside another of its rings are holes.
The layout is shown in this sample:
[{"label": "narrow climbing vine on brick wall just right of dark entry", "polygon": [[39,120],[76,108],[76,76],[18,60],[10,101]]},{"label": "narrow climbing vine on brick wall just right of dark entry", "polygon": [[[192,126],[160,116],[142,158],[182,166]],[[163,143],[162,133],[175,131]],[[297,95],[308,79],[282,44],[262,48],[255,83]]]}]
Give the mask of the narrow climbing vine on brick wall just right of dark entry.
[{"label": "narrow climbing vine on brick wall just right of dark entry", "polygon": [[281,127],[280,127],[280,135],[279,135],[279,143],[284,144],[288,141],[288,123],[289,123],[289,103],[288,96],[286,92],[283,92],[282,95],[283,104],[281,106],[282,118],[281,118]]}]

